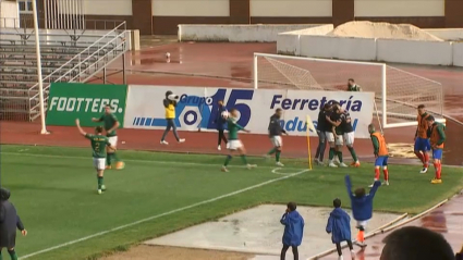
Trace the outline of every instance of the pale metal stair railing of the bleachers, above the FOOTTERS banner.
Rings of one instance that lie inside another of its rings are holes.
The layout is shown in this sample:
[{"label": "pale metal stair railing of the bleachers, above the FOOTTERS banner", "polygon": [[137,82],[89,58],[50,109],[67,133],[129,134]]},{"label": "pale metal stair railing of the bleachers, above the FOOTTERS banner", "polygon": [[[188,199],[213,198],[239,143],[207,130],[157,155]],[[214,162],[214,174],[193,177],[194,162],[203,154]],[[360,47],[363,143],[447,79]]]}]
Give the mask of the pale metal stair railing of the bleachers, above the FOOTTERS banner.
[{"label": "pale metal stair railing of the bleachers, above the FOOTTERS banner", "polygon": [[[127,30],[117,34],[111,40],[108,36],[125,27],[125,22],[89,45],[81,53],[62,64],[54,72],[44,77],[44,106],[47,107],[48,94],[51,83],[57,82],[86,82],[100,72],[106,65],[125,53],[129,49],[126,42]],[[29,120],[39,116],[39,86],[38,83],[28,89]]]}]

